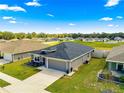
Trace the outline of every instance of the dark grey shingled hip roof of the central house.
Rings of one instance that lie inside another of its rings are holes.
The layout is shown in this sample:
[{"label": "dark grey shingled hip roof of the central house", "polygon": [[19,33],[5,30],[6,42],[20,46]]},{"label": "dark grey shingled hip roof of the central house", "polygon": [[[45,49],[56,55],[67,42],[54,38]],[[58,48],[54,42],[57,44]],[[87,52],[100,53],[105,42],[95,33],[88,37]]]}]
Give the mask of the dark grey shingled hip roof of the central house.
[{"label": "dark grey shingled hip roof of the central house", "polygon": [[42,51],[36,51],[35,53],[44,55],[47,57],[71,60],[82,54],[90,52],[94,49],[89,46],[84,46],[77,43],[64,42],[49,48],[45,48],[44,50],[55,50],[55,51],[51,53],[46,53],[46,54],[43,54]]}]

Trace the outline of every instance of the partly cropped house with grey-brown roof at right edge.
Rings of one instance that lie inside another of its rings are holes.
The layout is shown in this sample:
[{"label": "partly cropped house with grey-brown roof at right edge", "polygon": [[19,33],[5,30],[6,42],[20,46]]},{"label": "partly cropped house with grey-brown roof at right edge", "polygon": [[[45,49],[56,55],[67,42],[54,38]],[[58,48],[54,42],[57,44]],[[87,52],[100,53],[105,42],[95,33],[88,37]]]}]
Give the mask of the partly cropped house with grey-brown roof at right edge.
[{"label": "partly cropped house with grey-brown roof at right edge", "polygon": [[110,71],[124,71],[124,45],[115,47],[109,53],[106,62]]}]

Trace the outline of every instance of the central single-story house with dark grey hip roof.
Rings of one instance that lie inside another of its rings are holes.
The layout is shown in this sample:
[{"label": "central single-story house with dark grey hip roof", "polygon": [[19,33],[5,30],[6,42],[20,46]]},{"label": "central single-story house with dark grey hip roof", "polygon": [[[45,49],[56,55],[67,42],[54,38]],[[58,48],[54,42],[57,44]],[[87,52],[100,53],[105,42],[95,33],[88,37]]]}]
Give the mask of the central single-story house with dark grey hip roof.
[{"label": "central single-story house with dark grey hip roof", "polygon": [[77,43],[64,42],[32,54],[32,63],[46,68],[71,72],[91,59],[93,48]]}]

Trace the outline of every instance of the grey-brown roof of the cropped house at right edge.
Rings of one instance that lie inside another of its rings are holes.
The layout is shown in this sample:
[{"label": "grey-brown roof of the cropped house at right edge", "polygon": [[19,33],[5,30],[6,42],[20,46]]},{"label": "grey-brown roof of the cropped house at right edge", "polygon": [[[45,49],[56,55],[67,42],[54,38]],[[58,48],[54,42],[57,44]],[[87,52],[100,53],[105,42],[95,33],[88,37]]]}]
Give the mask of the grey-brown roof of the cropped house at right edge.
[{"label": "grey-brown roof of the cropped house at right edge", "polygon": [[107,60],[124,63],[124,45],[113,48],[109,53]]}]

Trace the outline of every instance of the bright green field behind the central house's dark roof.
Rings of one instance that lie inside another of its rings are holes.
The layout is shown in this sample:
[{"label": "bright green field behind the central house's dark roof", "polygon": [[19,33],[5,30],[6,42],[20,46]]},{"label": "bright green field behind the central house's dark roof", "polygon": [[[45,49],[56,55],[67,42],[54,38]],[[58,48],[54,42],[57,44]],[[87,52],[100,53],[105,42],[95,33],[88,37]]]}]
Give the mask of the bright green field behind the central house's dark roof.
[{"label": "bright green field behind the central house's dark roof", "polygon": [[113,43],[113,44],[108,44],[104,42],[83,42],[79,40],[75,40],[73,42],[83,44],[86,46],[90,46],[90,47],[93,47],[95,49],[100,49],[100,50],[111,50],[113,47],[124,45],[124,42],[118,42],[118,43]]}]

